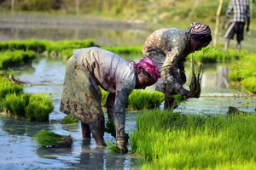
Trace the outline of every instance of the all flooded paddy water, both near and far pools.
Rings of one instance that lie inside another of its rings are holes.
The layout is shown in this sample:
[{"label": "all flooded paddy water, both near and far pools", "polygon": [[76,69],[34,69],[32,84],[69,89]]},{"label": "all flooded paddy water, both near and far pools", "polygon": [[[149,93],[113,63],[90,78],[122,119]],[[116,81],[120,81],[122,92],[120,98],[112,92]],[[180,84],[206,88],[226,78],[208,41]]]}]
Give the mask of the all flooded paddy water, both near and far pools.
[{"label": "all flooded paddy water, both near and far pools", "polygon": [[[0,40],[11,39],[86,39],[92,38],[99,45],[141,45],[151,31],[139,27],[114,23],[101,25],[98,22],[74,20],[60,24],[44,16],[34,25],[34,18],[20,14],[0,16],[4,25],[0,26]],[[34,20],[27,22],[24,18]],[[43,20],[43,21],[42,21]],[[47,23],[44,21],[47,20]],[[99,25],[100,24],[100,25]],[[75,25],[75,26],[74,26]],[[106,27],[107,26],[107,27]],[[143,26],[143,25],[140,25]],[[113,28],[114,27],[114,28]],[[101,28],[101,29],[99,29]],[[65,63],[61,59],[38,57],[31,65],[13,68],[15,77],[26,82],[26,93],[50,94],[55,110],[49,115],[49,122],[26,122],[25,119],[0,116],[0,169],[137,169],[142,159],[132,154],[113,154],[107,148],[96,147],[94,139],[82,142],[80,123],[61,124],[66,116],[59,111]],[[189,71],[187,77],[189,84]],[[225,114],[228,107],[236,106],[241,111],[255,111],[256,97],[249,96],[238,85],[228,80],[230,66],[206,65],[200,99],[189,99],[179,105],[176,111],[197,114]],[[188,88],[188,86],[185,86]],[[160,105],[160,109],[163,105]],[[104,111],[104,110],[103,110]],[[125,130],[132,132],[136,127],[138,112],[127,112]],[[107,116],[106,116],[107,117]],[[49,130],[63,135],[70,134],[74,143],[72,148],[40,148],[36,134]],[[113,137],[106,133],[104,139],[112,142]],[[131,147],[129,147],[131,150]]]}]

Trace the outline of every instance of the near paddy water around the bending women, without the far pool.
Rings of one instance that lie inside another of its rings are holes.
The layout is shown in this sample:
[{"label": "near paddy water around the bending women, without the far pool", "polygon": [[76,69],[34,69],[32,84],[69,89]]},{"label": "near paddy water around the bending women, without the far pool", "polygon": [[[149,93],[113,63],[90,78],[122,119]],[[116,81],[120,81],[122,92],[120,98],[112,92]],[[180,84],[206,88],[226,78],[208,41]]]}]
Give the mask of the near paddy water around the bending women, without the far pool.
[{"label": "near paddy water around the bending women, without the far pool", "polygon": [[[38,57],[32,65],[14,68],[16,77],[26,82],[27,93],[50,94],[55,110],[50,122],[26,122],[0,116],[0,169],[137,169],[142,161],[134,155],[112,154],[108,148],[96,147],[94,139],[82,143],[80,124],[63,125],[59,121],[65,116],[59,111],[65,63],[60,59]],[[189,67],[187,69],[189,82]],[[207,65],[203,77],[200,99],[190,99],[178,107],[183,113],[225,114],[228,106],[242,111],[254,111],[256,99],[247,96],[238,86],[230,88],[229,66]],[[188,87],[187,87],[188,88]],[[161,105],[160,108],[163,106]],[[136,127],[137,113],[127,113],[126,131]],[[41,130],[64,135],[70,134],[73,147],[70,149],[40,148],[36,134]],[[113,142],[108,133],[104,139]],[[130,147],[131,150],[131,147]]]}]

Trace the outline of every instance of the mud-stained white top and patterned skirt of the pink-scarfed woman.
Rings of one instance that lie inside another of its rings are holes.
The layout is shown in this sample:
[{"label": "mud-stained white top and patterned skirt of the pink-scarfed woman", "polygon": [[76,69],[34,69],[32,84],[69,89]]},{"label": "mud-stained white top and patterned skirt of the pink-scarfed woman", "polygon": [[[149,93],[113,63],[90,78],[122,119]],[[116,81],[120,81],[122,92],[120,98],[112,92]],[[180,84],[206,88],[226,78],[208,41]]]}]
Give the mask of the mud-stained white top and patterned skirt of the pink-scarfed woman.
[{"label": "mud-stained white top and patterned skirt of the pink-scarfed woman", "polygon": [[113,119],[117,134],[125,134],[125,104],[136,85],[133,66],[101,48],[73,50],[68,59],[60,111],[102,132],[104,120],[99,87],[114,94]]}]

